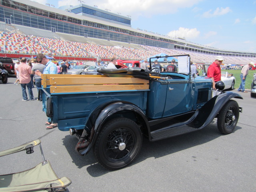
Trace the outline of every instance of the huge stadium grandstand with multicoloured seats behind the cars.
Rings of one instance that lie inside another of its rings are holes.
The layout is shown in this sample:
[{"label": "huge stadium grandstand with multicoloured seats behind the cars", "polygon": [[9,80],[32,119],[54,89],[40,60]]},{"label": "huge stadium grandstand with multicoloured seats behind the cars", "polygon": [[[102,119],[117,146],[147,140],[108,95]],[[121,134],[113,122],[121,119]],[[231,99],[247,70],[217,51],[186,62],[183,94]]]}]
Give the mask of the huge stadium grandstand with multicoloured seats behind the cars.
[{"label": "huge stadium grandstand with multicoloured seats behind the cars", "polygon": [[[85,5],[70,10],[82,13],[84,7],[87,11],[105,12]],[[1,0],[0,55],[18,58],[42,52],[56,59],[96,61],[108,60],[113,55],[120,59],[143,60],[164,52],[190,54],[197,63],[211,63],[216,55],[222,55],[226,64],[247,64],[256,60],[256,53],[221,50],[133,29],[129,24],[122,24],[124,19],[118,18],[118,14],[108,14],[104,13],[108,19],[100,19],[30,0]]]}]

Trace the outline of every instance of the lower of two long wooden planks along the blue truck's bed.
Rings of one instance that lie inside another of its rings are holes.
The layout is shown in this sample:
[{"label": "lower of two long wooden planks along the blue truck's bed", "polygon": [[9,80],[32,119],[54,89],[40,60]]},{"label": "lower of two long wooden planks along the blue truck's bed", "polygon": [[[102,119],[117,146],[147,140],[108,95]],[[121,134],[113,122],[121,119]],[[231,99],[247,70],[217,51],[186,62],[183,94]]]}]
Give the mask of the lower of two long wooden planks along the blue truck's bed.
[{"label": "lower of two long wooden planks along the blue truck's bed", "polygon": [[148,84],[50,86],[51,93],[147,90]]}]

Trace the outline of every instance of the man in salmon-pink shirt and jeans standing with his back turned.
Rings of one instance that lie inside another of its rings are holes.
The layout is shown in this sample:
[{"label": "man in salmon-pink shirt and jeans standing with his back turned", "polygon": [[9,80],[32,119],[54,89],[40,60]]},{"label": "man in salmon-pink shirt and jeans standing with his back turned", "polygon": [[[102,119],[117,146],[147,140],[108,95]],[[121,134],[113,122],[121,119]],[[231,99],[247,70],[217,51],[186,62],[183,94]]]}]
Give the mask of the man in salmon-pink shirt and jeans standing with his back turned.
[{"label": "man in salmon-pink shirt and jeans standing with his back turned", "polygon": [[30,82],[31,81],[31,78],[30,78],[31,67],[26,64],[26,60],[27,59],[25,57],[21,58],[20,64],[17,68],[17,70],[19,72],[19,76],[20,76],[20,85],[22,88],[22,96],[23,96],[22,101],[28,101],[26,86],[28,88],[28,94],[29,94],[30,101],[33,101],[35,99],[34,99],[34,95],[33,95],[33,91],[32,91],[32,84]]}]

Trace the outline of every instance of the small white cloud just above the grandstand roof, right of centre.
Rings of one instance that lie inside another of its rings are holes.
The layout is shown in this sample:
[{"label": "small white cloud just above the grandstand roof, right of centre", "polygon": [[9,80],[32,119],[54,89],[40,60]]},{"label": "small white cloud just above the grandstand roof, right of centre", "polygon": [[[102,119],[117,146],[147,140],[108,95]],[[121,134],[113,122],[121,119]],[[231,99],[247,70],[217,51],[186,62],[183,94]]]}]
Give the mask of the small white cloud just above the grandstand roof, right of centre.
[{"label": "small white cloud just above the grandstand roof, right of centre", "polygon": [[170,37],[180,37],[180,38],[187,38],[187,39],[194,39],[197,38],[200,34],[196,28],[188,29],[180,27],[179,30],[170,31],[167,35]]}]

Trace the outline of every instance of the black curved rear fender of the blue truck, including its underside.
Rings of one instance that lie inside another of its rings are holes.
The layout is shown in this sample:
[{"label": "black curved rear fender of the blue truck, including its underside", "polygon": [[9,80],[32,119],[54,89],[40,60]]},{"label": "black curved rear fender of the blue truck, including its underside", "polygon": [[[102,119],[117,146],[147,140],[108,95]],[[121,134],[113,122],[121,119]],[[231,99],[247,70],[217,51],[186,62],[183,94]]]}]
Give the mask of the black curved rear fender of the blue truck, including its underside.
[{"label": "black curved rear fender of the blue truck, including its underside", "polygon": [[[102,108],[101,112],[98,114],[98,110],[94,110],[86,122],[87,128],[90,129],[92,122],[94,126],[91,127],[90,131],[90,143],[88,147],[84,150],[79,150],[81,155],[85,155],[89,152],[90,148],[94,145],[100,130],[103,128],[104,124],[109,120],[117,117],[126,117],[134,120],[139,124],[143,134],[148,135],[150,133],[148,120],[143,113],[143,111],[132,103],[125,101],[118,101],[105,106]],[[78,151],[78,150],[77,150]]]}]

